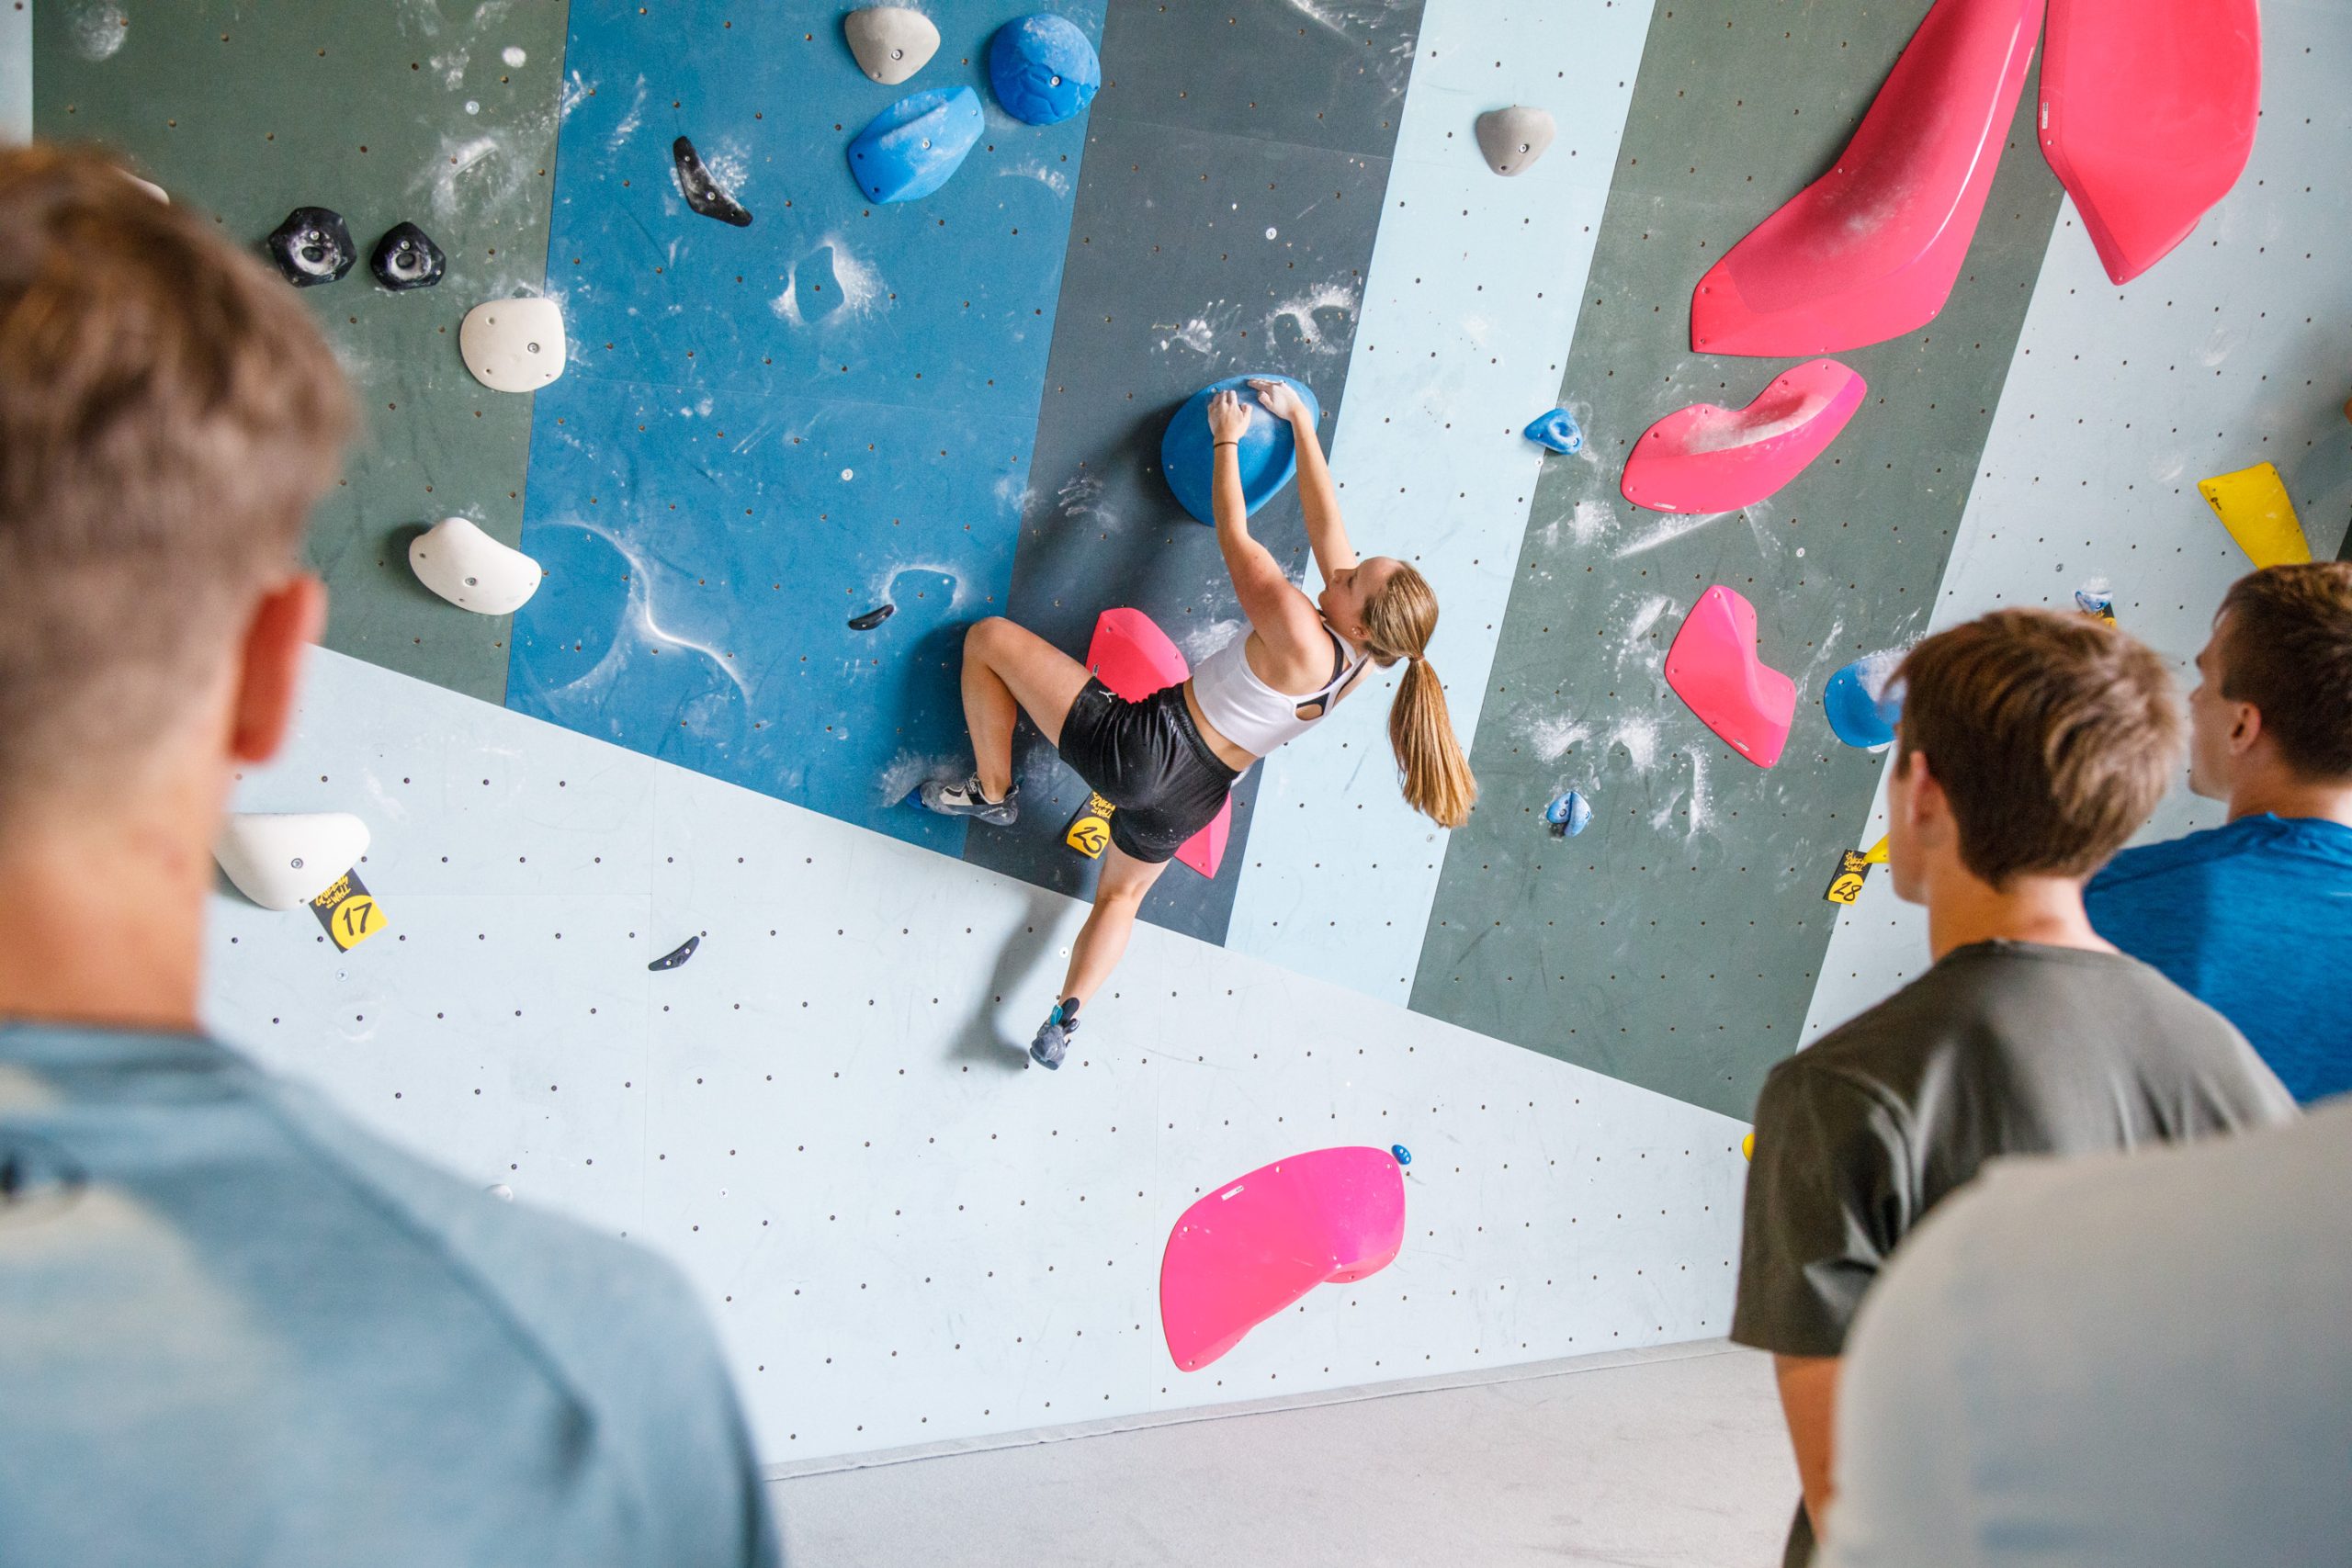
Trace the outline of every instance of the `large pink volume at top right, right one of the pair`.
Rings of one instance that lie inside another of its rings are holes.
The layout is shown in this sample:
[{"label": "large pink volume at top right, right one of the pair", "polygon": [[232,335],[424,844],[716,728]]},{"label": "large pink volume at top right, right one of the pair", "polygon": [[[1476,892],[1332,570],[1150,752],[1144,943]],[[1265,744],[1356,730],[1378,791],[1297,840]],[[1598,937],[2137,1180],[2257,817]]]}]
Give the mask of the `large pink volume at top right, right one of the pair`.
[{"label": "large pink volume at top right, right one of the pair", "polygon": [[2230,195],[2260,110],[2256,0],[2051,0],[2042,155],[2114,282]]}]

